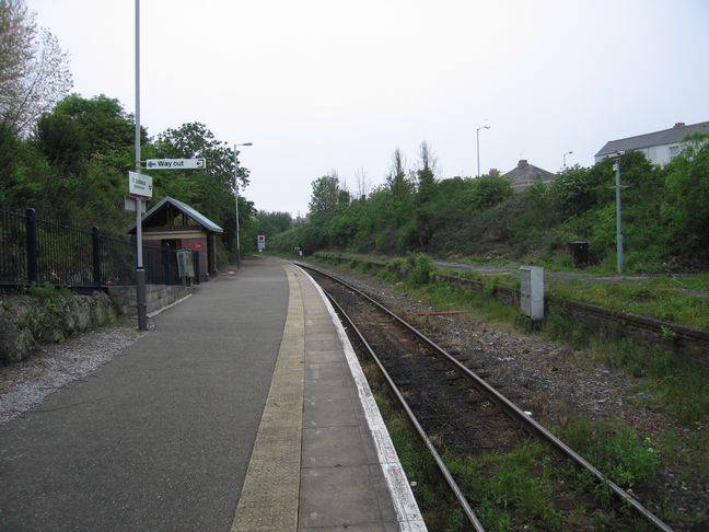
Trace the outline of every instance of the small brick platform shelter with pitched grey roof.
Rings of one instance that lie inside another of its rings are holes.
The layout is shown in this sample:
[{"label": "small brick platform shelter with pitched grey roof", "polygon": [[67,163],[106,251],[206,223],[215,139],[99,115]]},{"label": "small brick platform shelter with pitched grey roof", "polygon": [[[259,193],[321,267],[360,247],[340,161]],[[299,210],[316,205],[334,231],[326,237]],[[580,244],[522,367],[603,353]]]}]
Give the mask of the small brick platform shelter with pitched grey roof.
[{"label": "small brick platform shelter with pitched grey roof", "polygon": [[[126,230],[136,234],[136,223]],[[187,248],[199,252],[199,271],[202,278],[217,274],[217,234],[222,233],[217,225],[189,205],[170,196],[161,199],[142,217],[142,240],[160,243],[171,250]],[[159,266],[154,266],[159,267]]]}]

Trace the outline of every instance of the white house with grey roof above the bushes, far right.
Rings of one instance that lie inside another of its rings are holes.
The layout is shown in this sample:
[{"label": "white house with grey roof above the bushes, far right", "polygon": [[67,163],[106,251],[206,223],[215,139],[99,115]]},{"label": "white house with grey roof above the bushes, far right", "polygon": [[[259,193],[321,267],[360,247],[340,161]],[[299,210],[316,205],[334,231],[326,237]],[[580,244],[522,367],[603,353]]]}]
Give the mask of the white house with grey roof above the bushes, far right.
[{"label": "white house with grey roof above the bushes, far right", "polygon": [[709,122],[689,126],[684,122],[678,122],[670,129],[662,131],[611,140],[595,154],[595,162],[603,161],[619,151],[640,151],[651,163],[663,166],[677,157],[685,137],[696,131],[709,134]]}]

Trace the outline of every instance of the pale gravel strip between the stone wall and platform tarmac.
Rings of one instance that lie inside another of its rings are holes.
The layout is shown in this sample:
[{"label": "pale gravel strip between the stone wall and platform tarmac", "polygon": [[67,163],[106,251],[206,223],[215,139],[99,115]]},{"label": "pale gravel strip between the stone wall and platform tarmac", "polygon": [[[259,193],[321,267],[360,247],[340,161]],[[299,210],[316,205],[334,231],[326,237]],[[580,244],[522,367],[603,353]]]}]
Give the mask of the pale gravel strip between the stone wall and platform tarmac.
[{"label": "pale gravel strip between the stone wall and platform tarmac", "polygon": [[33,408],[70,382],[85,379],[147,332],[125,322],[42,346],[27,360],[0,366],[0,424]]}]

